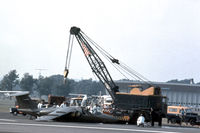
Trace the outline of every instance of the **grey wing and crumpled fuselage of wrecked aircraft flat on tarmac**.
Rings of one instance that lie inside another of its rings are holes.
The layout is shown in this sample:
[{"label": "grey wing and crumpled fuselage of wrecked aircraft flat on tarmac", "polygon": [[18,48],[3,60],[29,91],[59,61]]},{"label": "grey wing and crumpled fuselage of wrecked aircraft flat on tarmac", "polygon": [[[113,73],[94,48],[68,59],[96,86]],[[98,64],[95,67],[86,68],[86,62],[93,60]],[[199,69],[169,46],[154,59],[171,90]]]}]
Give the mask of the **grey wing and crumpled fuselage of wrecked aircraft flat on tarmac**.
[{"label": "grey wing and crumpled fuselage of wrecked aircraft flat on tarmac", "polygon": [[103,122],[103,123],[117,123],[120,122],[118,118],[104,114],[92,114],[88,111],[83,111],[81,107],[64,107],[58,108],[52,113],[38,117],[37,121],[79,121],[79,122]]}]

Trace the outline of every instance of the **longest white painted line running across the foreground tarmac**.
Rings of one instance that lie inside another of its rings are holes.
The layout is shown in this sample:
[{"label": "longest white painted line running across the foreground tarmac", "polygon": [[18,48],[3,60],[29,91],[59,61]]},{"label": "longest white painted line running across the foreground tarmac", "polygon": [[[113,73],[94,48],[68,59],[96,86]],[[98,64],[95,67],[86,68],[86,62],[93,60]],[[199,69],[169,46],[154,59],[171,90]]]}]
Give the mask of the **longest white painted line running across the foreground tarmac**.
[{"label": "longest white painted line running across the foreground tarmac", "polygon": [[58,127],[58,128],[76,128],[76,129],[93,129],[93,130],[111,130],[111,131],[131,131],[131,132],[146,132],[146,133],[180,133],[168,132],[161,130],[140,130],[140,129],[122,129],[122,128],[104,128],[104,127],[85,127],[85,126],[69,126],[69,125],[47,125],[47,124],[28,124],[28,123],[2,123],[0,125],[16,125],[16,126],[35,126],[35,127]]}]

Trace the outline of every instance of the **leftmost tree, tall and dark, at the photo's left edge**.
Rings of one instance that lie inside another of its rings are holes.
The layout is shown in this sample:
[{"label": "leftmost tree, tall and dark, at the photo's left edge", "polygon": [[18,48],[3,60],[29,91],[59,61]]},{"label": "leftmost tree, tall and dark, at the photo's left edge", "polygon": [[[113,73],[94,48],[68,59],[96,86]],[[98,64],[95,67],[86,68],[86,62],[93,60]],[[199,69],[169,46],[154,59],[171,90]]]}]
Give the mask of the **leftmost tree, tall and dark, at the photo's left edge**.
[{"label": "leftmost tree, tall and dark, at the photo's left edge", "polygon": [[19,75],[17,74],[16,70],[10,71],[6,74],[0,84],[1,90],[12,91],[13,87],[18,84]]}]

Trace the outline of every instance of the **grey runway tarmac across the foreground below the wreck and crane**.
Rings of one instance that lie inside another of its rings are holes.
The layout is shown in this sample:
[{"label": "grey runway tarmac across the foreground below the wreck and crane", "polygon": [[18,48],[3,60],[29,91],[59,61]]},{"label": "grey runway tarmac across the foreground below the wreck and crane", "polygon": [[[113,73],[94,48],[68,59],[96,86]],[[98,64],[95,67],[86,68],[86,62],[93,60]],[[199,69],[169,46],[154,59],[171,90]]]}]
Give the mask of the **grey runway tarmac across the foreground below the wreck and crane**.
[{"label": "grey runway tarmac across the foreground below the wreck and crane", "polygon": [[24,116],[0,113],[0,133],[199,133],[200,128],[137,127],[126,124],[36,122]]}]

